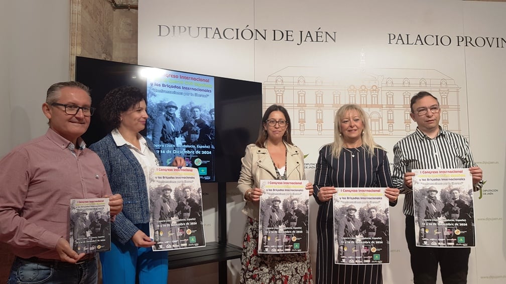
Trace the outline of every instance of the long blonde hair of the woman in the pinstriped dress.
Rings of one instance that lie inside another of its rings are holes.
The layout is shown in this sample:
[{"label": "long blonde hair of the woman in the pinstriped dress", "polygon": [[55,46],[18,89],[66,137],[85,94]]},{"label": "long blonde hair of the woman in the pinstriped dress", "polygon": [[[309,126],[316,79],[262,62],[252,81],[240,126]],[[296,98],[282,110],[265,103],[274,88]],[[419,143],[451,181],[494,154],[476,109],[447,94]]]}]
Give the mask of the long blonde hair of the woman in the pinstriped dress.
[{"label": "long blonde hair of the woman in the pinstriped dress", "polygon": [[335,113],[334,117],[334,142],[330,143],[330,149],[332,150],[332,156],[339,158],[341,151],[343,150],[343,136],[341,135],[341,120],[349,111],[357,111],[360,120],[362,121],[363,131],[361,134],[362,147],[371,156],[374,155],[374,149],[383,149],[383,147],[377,145],[372,137],[371,127],[369,126],[369,120],[367,113],[359,106],[355,104],[344,105]]}]

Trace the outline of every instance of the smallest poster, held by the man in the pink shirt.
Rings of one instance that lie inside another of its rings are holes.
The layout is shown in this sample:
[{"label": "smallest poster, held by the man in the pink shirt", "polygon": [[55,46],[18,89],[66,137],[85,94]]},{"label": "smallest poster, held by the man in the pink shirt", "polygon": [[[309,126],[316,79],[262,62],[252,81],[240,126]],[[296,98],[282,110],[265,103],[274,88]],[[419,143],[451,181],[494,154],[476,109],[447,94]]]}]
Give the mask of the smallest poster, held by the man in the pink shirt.
[{"label": "smallest poster, held by the man in the pink shirt", "polygon": [[70,200],[69,244],[77,253],[111,249],[111,212],[108,198]]}]

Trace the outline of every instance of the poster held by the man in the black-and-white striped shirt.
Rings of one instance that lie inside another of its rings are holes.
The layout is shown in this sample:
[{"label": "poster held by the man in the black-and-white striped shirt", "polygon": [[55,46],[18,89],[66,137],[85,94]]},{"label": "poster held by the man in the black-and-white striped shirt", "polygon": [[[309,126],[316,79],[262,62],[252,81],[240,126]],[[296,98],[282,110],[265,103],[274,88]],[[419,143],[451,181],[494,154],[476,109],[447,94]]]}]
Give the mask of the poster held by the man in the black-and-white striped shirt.
[{"label": "poster held by the man in the black-and-white striped shirt", "polygon": [[416,246],[476,246],[473,178],[469,169],[413,172]]}]

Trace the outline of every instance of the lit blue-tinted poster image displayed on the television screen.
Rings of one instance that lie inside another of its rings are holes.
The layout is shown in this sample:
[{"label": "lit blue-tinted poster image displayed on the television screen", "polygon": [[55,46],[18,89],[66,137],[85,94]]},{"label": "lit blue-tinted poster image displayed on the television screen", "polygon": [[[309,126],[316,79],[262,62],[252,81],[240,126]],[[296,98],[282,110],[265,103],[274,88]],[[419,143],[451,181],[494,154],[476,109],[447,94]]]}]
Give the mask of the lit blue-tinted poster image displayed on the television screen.
[{"label": "lit blue-tinted poster image displayed on the television screen", "polygon": [[214,77],[157,70],[147,80],[147,136],[163,166],[176,156],[197,168],[200,178],[214,180]]}]

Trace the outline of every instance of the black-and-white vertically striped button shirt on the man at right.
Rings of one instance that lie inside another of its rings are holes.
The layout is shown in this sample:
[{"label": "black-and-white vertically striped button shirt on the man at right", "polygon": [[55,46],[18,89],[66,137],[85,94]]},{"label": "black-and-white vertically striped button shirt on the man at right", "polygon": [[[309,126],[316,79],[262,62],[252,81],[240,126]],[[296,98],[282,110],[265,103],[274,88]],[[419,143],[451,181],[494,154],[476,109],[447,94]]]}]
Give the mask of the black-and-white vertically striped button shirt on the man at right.
[{"label": "black-and-white vertically striped button shirt on the man at right", "polygon": [[[404,173],[413,169],[456,169],[474,166],[476,164],[466,137],[439,127],[439,134],[432,139],[417,127],[415,132],[394,146],[392,181],[400,193],[405,194],[402,208],[404,215],[414,216],[413,191],[404,184]],[[482,185],[480,181],[474,185],[473,190],[479,191]]]}]

